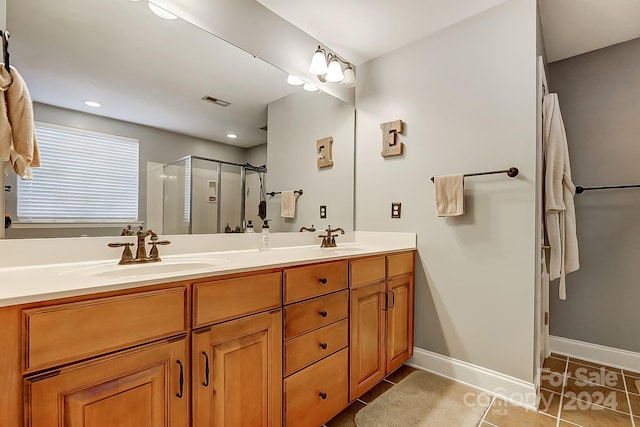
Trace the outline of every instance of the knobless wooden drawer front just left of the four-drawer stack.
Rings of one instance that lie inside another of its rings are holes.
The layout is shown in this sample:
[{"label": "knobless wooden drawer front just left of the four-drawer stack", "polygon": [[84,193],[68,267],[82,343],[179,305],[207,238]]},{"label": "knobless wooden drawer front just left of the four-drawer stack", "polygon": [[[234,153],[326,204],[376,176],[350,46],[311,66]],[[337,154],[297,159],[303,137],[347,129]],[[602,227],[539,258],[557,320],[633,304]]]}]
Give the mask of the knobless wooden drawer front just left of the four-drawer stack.
[{"label": "knobless wooden drawer front just left of the four-drawer stack", "polygon": [[281,283],[280,272],[196,283],[193,327],[278,308],[282,299]]}]

